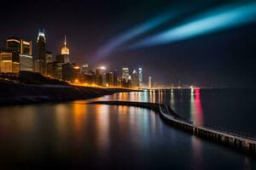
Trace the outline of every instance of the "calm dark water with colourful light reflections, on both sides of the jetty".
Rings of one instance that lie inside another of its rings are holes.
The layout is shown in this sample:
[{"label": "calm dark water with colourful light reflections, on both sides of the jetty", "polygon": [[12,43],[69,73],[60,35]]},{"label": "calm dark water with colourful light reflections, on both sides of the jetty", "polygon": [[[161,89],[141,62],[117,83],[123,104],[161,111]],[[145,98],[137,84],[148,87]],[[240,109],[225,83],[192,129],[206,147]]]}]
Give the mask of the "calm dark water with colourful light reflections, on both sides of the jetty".
[{"label": "calm dark water with colourful light reflections, on both sides of the jetty", "polygon": [[[170,89],[100,100],[166,103],[201,125],[256,134],[255,94]],[[1,107],[0,168],[256,168],[255,158],[173,129],[152,111],[86,102]]]}]

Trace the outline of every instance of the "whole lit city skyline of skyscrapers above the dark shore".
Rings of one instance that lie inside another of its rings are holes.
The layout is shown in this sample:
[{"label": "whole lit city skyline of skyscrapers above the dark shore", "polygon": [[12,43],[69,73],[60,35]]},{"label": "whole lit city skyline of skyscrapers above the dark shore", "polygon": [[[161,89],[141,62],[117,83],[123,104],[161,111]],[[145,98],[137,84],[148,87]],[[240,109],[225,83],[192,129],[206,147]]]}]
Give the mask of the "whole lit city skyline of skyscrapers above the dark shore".
[{"label": "whole lit city skyline of skyscrapers above the dark shore", "polygon": [[45,30],[38,29],[36,54],[32,54],[32,41],[24,41],[21,37],[8,37],[6,48],[0,51],[1,76],[13,82],[17,80],[16,77],[27,77],[32,82],[31,77],[43,76],[84,87],[153,88],[143,83],[143,68],[131,72],[129,68],[123,67],[119,74],[118,69],[106,68],[103,65],[96,69],[90,68],[85,61],[83,65],[78,65],[73,62],[66,35],[58,54],[49,52],[46,39]]}]

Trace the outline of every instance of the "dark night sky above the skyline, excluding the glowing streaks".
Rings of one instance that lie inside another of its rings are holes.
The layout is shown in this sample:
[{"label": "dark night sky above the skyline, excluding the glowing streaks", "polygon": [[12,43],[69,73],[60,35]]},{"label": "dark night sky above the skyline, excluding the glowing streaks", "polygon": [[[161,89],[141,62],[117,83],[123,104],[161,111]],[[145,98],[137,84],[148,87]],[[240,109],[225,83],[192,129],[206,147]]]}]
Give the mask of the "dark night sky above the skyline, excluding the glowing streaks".
[{"label": "dark night sky above the skyline, excluding the glowing streaks", "polygon": [[100,59],[95,57],[97,49],[110,38],[163,11],[186,8],[165,25],[171,26],[193,14],[234,2],[245,1],[4,1],[0,46],[5,47],[6,37],[18,36],[32,40],[35,48],[38,28],[44,28],[49,51],[59,54],[67,35],[72,61],[80,65],[88,62],[93,69],[99,65],[111,69],[143,66],[144,76],[150,75],[160,83],[180,80],[213,88],[255,88],[256,22],[164,46],[118,50]]}]

